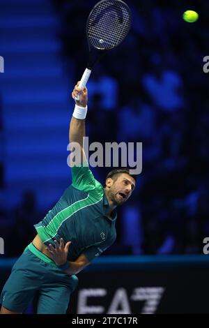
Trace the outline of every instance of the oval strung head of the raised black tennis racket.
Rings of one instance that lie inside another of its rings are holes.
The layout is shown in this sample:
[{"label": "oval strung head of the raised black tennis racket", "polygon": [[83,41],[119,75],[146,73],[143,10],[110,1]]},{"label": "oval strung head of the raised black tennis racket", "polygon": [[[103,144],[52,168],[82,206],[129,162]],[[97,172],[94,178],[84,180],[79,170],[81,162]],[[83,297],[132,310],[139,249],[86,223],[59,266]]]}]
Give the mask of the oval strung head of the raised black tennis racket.
[{"label": "oval strung head of the raised black tennis racket", "polygon": [[121,1],[103,1],[88,20],[87,34],[93,47],[108,50],[127,35],[131,24],[130,10]]}]

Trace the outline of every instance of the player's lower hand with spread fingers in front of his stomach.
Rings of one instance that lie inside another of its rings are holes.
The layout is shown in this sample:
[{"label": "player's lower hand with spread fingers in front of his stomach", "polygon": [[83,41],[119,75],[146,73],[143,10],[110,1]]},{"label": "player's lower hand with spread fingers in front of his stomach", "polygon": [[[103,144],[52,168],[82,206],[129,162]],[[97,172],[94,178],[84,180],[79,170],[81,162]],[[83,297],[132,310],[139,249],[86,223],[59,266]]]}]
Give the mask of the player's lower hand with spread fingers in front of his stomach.
[{"label": "player's lower hand with spread fingers in front of his stomach", "polygon": [[68,241],[64,246],[63,238],[60,239],[60,244],[56,240],[54,240],[55,247],[52,244],[49,244],[49,247],[46,249],[51,254],[52,260],[56,263],[56,265],[63,265],[67,261],[68,258],[68,249],[70,247],[71,241]]}]

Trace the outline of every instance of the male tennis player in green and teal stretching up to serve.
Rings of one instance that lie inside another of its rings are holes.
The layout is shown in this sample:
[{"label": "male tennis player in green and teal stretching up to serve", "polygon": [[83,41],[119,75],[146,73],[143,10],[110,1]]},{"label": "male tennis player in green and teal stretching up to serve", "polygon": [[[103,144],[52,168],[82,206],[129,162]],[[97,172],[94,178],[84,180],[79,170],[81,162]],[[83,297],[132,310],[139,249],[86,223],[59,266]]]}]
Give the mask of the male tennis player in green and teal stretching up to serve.
[{"label": "male tennis player in green and teal stretching up to serve", "polygon": [[105,187],[86,163],[83,137],[88,91],[80,94],[70,121],[70,142],[82,149],[80,165],[71,167],[72,184],[54,208],[35,225],[37,235],[15,262],[1,292],[1,314],[24,313],[38,293],[37,313],[66,313],[77,276],[116,239],[116,207],[132,194],[136,177],[129,170],[112,170]]}]

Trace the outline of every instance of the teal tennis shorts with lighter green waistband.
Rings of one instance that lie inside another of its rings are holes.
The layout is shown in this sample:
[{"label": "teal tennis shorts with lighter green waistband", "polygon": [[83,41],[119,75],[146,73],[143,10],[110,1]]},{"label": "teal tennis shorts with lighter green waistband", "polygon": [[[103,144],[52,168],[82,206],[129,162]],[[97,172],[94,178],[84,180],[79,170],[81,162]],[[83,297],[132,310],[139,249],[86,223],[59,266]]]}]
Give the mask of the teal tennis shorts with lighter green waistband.
[{"label": "teal tennis shorts with lighter green waistband", "polygon": [[38,314],[64,314],[77,283],[77,276],[65,274],[54,261],[29,244],[13,266],[1,292],[0,304],[10,311],[24,313],[38,293]]}]

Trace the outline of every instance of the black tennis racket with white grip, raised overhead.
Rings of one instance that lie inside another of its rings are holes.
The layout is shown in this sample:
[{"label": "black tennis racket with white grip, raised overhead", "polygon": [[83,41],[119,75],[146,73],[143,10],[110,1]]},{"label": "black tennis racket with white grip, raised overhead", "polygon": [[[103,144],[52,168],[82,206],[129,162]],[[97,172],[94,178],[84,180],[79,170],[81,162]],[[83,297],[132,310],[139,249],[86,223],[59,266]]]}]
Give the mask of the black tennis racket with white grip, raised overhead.
[{"label": "black tennis racket with white grip, raised overhead", "polygon": [[[131,11],[121,0],[102,0],[93,7],[86,22],[89,59],[79,88],[84,89],[91,70],[100,58],[114,47],[117,47],[127,36],[131,26]],[[98,52],[95,59],[93,50]],[[75,100],[79,100],[79,94]]]}]

